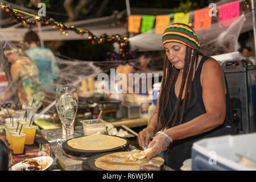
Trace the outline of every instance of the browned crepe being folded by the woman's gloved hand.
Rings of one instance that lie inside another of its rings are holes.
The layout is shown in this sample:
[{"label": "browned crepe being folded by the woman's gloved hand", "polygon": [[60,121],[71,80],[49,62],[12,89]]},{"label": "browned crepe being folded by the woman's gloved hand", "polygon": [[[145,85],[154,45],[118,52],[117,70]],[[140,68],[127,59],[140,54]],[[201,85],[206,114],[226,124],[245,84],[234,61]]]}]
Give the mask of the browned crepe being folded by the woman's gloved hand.
[{"label": "browned crepe being folded by the woman's gloved hand", "polygon": [[[115,152],[97,158],[94,164],[97,168],[101,168],[106,171],[139,171],[139,164],[141,164],[143,160],[147,159],[131,161],[128,156],[135,153],[139,152]],[[164,163],[164,159],[159,156],[155,156],[151,160],[154,160],[155,164],[158,166],[162,166]]]}]

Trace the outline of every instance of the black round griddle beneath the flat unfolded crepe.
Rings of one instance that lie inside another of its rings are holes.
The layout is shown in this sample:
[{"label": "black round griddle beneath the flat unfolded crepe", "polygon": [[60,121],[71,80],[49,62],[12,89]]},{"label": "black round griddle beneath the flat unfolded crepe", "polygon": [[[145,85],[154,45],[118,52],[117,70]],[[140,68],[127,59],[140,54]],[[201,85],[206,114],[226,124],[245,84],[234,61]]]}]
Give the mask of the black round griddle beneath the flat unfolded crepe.
[{"label": "black round griddle beneath the flat unfolded crepe", "polygon": [[[83,136],[85,137],[85,136]],[[112,136],[112,137],[117,137],[117,136]],[[80,138],[80,137],[76,137],[76,138]],[[92,156],[92,155],[96,155],[96,154],[101,154],[103,152],[116,152],[116,151],[125,151],[127,150],[127,148],[129,147],[129,140],[123,137],[118,137],[118,138],[122,138],[126,140],[126,144],[124,144],[123,146],[120,147],[115,147],[115,148],[111,148],[111,149],[107,149],[107,150],[80,150],[80,149],[76,149],[73,148],[71,146],[68,145],[68,140],[66,140],[65,142],[63,142],[62,144],[62,148],[65,152],[67,152],[68,154],[71,155],[78,155],[78,156]],[[74,139],[74,138],[72,138]],[[69,139],[71,140],[71,139]]]}]

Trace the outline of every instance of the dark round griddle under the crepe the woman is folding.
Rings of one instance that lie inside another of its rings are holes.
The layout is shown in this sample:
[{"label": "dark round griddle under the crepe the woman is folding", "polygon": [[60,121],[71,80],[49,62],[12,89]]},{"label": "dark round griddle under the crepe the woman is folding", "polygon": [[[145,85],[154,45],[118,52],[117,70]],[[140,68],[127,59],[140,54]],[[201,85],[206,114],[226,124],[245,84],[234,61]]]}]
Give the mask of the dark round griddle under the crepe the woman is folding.
[{"label": "dark round griddle under the crepe the woman is folding", "polygon": [[[95,165],[95,161],[96,159],[104,156],[104,155],[108,155],[108,154],[112,154],[114,152],[105,152],[105,153],[102,153],[102,154],[97,154],[97,155],[93,155],[93,156],[90,156],[89,158],[85,159],[83,162],[82,162],[82,170],[83,171],[106,171],[104,169],[101,169],[101,168],[98,168],[96,165]],[[163,165],[160,167],[160,170],[163,169]]]}]

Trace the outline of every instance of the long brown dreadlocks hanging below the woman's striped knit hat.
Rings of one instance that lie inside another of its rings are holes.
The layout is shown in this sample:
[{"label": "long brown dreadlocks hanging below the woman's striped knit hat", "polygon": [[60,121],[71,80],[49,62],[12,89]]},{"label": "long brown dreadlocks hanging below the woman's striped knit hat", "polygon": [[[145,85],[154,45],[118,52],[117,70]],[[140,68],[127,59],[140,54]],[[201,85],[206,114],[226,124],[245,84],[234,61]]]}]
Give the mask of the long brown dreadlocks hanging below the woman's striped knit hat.
[{"label": "long brown dreadlocks hanging below the woman's striped knit hat", "polygon": [[[175,85],[174,80],[175,80],[177,69],[174,66],[172,66],[167,56],[164,59],[164,67],[163,67],[164,73],[163,73],[163,80],[161,84],[162,91],[159,96],[159,110],[158,110],[158,122],[161,123],[161,125],[163,126],[163,129],[166,126],[169,126],[171,122],[172,122],[171,127],[174,127],[175,125],[179,125],[183,121],[184,111],[190,105],[191,92],[192,92],[192,79],[196,71],[195,62],[196,62],[197,55],[203,56],[203,53],[201,53],[200,51],[196,51],[191,47],[186,46],[184,71],[182,73],[180,92],[179,92],[179,96],[177,97],[174,110],[172,110],[171,116],[168,119],[168,121],[164,117],[164,111],[166,110],[166,107],[168,105],[172,86]],[[187,80],[187,83],[185,84],[186,80]],[[180,121],[179,123],[177,123],[179,106],[180,106],[181,97],[184,89],[185,89],[185,93],[184,93],[184,100],[183,100],[183,105],[182,105],[182,110],[180,115]]]}]

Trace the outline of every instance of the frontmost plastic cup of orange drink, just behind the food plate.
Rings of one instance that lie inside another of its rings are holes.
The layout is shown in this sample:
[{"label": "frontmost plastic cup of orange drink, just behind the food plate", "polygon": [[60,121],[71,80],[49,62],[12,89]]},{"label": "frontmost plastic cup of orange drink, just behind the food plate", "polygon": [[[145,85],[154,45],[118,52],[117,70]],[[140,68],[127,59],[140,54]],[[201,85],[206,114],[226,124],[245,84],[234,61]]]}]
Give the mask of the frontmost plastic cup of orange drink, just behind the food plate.
[{"label": "frontmost plastic cup of orange drink, just behind the food plate", "polygon": [[13,154],[23,154],[26,134],[11,134],[13,142]]}]

